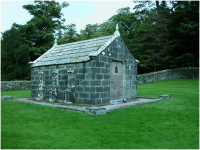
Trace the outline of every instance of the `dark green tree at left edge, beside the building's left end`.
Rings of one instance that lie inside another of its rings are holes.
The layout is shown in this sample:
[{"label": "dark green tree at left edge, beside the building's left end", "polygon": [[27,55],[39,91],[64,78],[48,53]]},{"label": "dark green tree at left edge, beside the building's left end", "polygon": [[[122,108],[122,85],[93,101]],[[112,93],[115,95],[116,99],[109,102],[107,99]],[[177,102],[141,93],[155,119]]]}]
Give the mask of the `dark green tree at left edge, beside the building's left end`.
[{"label": "dark green tree at left edge, beside the building's left end", "polygon": [[2,80],[6,81],[30,79],[29,47],[15,25],[13,23],[10,30],[2,33],[1,71]]}]

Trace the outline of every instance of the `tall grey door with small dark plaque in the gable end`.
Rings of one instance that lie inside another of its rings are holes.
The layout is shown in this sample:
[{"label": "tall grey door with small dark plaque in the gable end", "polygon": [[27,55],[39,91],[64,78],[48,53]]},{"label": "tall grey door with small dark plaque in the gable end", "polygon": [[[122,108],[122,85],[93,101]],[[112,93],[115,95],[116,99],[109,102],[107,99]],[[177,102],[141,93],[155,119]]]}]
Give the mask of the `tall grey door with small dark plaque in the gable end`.
[{"label": "tall grey door with small dark plaque in the gable end", "polygon": [[123,64],[111,62],[110,100],[123,99]]}]

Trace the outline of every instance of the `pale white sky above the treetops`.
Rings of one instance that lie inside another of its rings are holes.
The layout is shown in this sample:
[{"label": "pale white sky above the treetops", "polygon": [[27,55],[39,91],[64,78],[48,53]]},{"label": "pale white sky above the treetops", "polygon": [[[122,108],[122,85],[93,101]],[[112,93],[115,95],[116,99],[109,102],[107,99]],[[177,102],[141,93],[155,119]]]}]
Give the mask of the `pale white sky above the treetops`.
[{"label": "pale white sky above the treetops", "polygon": [[[57,0],[58,1],[58,0]],[[63,2],[59,0],[59,2]],[[84,29],[87,24],[103,23],[108,20],[116,11],[123,7],[130,7],[131,11],[135,3],[133,0],[121,1],[67,1],[70,5],[62,10],[63,18],[66,19],[65,25],[74,23],[76,30],[79,32]],[[11,28],[15,22],[24,25],[32,16],[27,10],[23,9],[23,5],[34,4],[32,1],[8,1],[1,0],[1,32]]]}]

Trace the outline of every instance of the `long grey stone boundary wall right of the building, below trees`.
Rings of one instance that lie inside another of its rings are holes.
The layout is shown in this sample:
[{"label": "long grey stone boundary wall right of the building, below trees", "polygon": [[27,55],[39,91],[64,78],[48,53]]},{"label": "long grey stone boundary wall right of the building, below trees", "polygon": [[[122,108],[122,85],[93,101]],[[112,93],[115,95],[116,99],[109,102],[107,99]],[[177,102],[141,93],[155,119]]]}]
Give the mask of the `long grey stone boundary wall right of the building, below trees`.
[{"label": "long grey stone boundary wall right of the building, below trees", "polygon": [[176,68],[141,74],[137,76],[137,84],[157,82],[170,79],[199,79],[199,68]]}]

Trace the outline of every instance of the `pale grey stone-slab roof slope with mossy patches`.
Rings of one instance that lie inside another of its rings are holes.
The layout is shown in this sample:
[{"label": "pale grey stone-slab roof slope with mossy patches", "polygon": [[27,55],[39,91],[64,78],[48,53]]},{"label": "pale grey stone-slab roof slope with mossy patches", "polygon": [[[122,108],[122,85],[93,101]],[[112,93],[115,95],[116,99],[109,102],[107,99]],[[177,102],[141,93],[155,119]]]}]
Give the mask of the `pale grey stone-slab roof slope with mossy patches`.
[{"label": "pale grey stone-slab roof slope with mossy patches", "polygon": [[89,56],[97,56],[118,36],[111,35],[63,45],[54,45],[38,59],[30,62],[31,67],[88,61],[90,60]]}]

